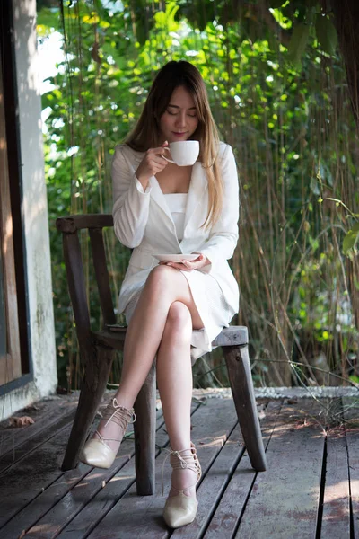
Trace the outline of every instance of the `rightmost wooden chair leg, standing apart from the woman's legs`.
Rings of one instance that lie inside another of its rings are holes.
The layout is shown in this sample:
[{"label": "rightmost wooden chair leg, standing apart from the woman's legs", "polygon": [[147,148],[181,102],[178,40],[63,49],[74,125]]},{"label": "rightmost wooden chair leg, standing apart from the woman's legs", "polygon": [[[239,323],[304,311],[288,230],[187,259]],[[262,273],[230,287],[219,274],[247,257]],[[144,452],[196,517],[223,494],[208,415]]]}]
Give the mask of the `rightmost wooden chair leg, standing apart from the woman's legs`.
[{"label": "rightmost wooden chair leg, standing apart from the woman's legs", "polygon": [[223,354],[250,464],[257,472],[264,472],[267,467],[266,453],[258,420],[248,347],[223,347]]}]

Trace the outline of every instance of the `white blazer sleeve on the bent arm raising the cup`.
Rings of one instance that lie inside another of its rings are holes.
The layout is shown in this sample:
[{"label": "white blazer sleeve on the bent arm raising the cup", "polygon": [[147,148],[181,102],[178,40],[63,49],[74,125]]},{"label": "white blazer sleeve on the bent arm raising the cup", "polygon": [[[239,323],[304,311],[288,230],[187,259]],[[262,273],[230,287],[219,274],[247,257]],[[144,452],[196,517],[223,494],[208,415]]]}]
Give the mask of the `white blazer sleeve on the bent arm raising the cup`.
[{"label": "white blazer sleeve on the bent arm raising the cup", "polygon": [[113,224],[118,240],[127,247],[137,247],[144,237],[150,210],[151,187],[144,191],[137,180],[123,146],[117,146],[112,161]]}]

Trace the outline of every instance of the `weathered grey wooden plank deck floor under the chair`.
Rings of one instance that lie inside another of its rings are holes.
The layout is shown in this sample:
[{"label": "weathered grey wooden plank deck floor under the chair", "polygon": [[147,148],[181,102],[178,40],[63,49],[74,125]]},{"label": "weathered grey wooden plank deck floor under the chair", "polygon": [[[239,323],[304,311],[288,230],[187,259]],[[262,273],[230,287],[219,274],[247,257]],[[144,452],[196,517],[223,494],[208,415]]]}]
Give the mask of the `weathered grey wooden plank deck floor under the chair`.
[{"label": "weathered grey wooden plank deck floor under the chair", "polygon": [[[168,437],[161,410],[156,495],[140,498],[132,439],[123,442],[108,471],[80,464],[61,472],[75,405],[68,397],[42,401],[24,412],[33,425],[0,429],[2,539],[359,538],[359,413],[353,399],[259,400],[264,473],[250,467],[232,400],[195,400],[192,439],[204,472],[199,508],[192,525],[174,532],[162,521]],[[330,427],[328,410],[353,421]],[[166,465],[167,489],[170,473]]]}]

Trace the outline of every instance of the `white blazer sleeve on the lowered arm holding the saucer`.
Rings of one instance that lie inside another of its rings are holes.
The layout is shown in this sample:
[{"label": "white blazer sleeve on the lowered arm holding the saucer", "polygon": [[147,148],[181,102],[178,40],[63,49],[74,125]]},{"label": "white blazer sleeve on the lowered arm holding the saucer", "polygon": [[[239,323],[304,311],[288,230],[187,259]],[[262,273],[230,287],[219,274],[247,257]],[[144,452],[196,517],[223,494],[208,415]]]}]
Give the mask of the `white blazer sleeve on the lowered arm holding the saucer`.
[{"label": "white blazer sleeve on the lowered arm holding the saucer", "polygon": [[201,271],[210,273],[218,262],[232,258],[238,242],[239,219],[239,186],[237,166],[232,147],[227,145],[222,157],[221,166],[224,192],[221,216],[211,230],[206,243],[199,250],[211,262]]}]

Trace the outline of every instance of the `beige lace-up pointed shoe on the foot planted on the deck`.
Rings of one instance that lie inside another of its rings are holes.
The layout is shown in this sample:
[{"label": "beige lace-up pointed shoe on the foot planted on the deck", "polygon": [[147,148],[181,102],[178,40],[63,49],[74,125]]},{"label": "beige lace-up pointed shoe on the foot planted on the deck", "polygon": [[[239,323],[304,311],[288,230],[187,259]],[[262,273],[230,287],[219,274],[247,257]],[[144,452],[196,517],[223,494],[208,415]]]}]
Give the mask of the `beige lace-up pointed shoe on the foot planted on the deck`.
[{"label": "beige lace-up pointed shoe on the foot planted on the deck", "polygon": [[197,485],[197,482],[201,478],[202,470],[201,465],[198,461],[196,446],[194,446],[192,442],[190,449],[170,451],[166,459],[169,456],[171,457],[170,462],[173,470],[191,470],[197,475],[197,481],[195,482],[195,484],[191,485],[190,487],[187,487],[186,489],[178,490],[172,487],[172,489],[177,490],[179,493],[176,494],[176,496],[171,496],[171,498],[167,498],[166,500],[166,504],[163,509],[164,521],[167,526],[171,528],[178,528],[190,524],[196,518],[198,507],[197,499],[186,496],[185,490],[192,489]]}]

